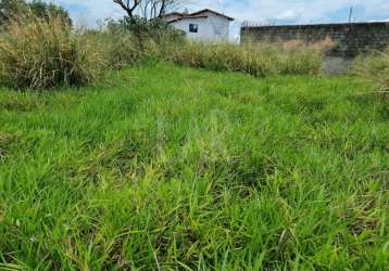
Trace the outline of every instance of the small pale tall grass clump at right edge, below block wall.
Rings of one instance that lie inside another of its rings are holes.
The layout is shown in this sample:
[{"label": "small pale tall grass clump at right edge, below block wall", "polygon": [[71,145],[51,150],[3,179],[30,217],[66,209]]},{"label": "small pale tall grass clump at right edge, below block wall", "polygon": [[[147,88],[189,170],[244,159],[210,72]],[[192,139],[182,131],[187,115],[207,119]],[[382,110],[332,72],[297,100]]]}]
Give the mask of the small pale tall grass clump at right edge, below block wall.
[{"label": "small pale tall grass clump at right edge, below block wall", "polygon": [[376,85],[378,91],[389,92],[389,48],[357,56],[351,73]]}]

